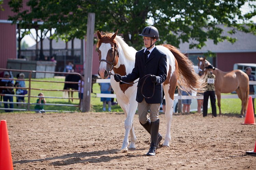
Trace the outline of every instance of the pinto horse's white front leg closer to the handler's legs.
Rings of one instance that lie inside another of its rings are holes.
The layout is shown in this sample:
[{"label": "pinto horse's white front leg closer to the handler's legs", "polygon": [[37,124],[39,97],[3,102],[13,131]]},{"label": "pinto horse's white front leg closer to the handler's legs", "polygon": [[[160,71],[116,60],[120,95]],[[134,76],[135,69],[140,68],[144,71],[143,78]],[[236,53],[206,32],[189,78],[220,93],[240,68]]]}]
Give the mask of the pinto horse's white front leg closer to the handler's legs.
[{"label": "pinto horse's white front leg closer to the handler's legs", "polygon": [[137,140],[137,137],[134,132],[133,118],[134,118],[137,106],[138,106],[138,102],[136,101],[136,99],[130,100],[129,112],[128,112],[128,115],[126,118],[127,124],[125,122],[125,130],[130,129],[130,125],[131,125],[131,129],[130,129],[131,143],[130,143],[129,148],[136,148],[135,142]]}]

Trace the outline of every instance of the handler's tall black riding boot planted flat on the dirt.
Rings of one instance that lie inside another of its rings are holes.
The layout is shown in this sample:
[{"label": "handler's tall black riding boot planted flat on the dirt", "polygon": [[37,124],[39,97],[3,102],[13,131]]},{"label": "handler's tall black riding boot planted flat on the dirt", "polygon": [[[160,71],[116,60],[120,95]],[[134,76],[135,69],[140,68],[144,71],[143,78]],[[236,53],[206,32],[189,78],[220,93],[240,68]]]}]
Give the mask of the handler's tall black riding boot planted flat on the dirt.
[{"label": "handler's tall black riding boot planted flat on the dirt", "polygon": [[157,119],[155,122],[151,122],[151,143],[150,143],[150,149],[146,154],[147,156],[156,155],[158,131],[159,131],[159,119]]}]

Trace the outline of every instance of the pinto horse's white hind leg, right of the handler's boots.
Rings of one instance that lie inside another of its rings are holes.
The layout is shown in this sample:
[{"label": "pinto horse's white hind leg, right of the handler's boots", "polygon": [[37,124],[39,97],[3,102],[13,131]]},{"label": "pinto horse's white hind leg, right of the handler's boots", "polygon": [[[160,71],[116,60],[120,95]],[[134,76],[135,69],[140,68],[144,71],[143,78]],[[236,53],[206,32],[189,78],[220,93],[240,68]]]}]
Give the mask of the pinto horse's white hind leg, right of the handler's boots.
[{"label": "pinto horse's white hind leg, right of the handler's boots", "polygon": [[163,146],[169,147],[169,142],[171,140],[171,123],[172,123],[172,114],[173,114],[173,100],[170,97],[166,97],[166,135],[165,141],[163,142]]}]

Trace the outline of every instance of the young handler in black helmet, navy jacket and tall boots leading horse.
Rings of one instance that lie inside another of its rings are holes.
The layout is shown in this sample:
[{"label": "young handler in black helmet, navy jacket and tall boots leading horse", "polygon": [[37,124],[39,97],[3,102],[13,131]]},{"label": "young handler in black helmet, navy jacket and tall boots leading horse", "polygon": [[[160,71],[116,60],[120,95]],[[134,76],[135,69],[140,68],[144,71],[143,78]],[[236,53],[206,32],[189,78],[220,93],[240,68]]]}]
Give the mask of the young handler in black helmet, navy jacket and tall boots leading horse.
[{"label": "young handler in black helmet, navy jacket and tall boots leading horse", "polygon": [[[117,82],[133,82],[138,78],[142,79],[147,74],[152,74],[151,78],[145,80],[143,89],[143,82],[138,83],[136,101],[138,102],[139,121],[146,131],[151,134],[150,149],[146,155],[155,156],[156,149],[162,140],[162,135],[158,132],[158,113],[160,103],[162,103],[162,83],[167,78],[167,56],[155,46],[159,38],[159,32],[155,27],[145,27],[139,35],[143,36],[146,48],[136,53],[135,65],[130,74],[125,76],[115,74],[114,79]],[[153,90],[155,90],[153,97],[148,98],[152,96]],[[150,112],[150,119],[147,118],[148,111]]]}]

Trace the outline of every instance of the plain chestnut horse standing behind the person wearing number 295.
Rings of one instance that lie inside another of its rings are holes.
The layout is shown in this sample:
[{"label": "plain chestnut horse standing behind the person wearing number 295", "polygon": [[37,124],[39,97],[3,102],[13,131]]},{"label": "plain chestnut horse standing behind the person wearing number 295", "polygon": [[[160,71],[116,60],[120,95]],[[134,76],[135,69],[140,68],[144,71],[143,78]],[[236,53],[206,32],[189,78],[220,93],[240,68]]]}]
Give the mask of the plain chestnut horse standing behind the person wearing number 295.
[{"label": "plain chestnut horse standing behind the person wearing number 295", "polygon": [[[198,59],[198,69],[199,74],[207,72],[205,67],[211,65],[211,63],[206,59],[206,57],[197,57]],[[219,114],[221,115],[221,93],[230,93],[236,91],[238,97],[242,101],[241,116],[246,113],[246,108],[248,104],[249,95],[249,78],[246,73],[241,70],[233,70],[229,72],[221,71],[217,68],[213,70],[213,74],[216,76],[214,83],[215,94],[218,100]]]}]

